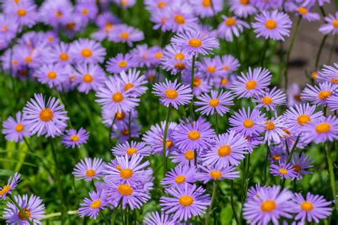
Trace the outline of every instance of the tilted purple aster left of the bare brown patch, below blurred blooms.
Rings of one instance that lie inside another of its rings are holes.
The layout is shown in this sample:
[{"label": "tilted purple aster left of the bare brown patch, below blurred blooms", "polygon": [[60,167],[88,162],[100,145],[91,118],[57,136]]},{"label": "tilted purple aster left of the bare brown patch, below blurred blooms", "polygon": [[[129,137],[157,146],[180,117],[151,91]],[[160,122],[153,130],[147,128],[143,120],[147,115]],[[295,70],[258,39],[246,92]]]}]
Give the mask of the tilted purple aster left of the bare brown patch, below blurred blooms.
[{"label": "tilted purple aster left of the bare brown patch, below blurred blooms", "polygon": [[233,92],[239,98],[250,98],[264,93],[264,89],[270,85],[272,75],[265,68],[249,67],[248,72],[242,73],[232,85]]}]

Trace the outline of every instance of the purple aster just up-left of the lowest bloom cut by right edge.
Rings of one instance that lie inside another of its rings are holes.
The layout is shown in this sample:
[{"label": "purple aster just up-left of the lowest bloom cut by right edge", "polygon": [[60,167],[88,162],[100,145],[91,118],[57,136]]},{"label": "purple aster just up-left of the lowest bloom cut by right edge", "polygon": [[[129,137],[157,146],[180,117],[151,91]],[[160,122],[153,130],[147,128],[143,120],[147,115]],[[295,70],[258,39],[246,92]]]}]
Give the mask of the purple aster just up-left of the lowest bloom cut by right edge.
[{"label": "purple aster just up-left of the lowest bloom cut by right edge", "polygon": [[287,109],[284,113],[285,126],[290,129],[291,132],[299,134],[303,130],[307,129],[306,125],[309,122],[319,120],[323,116],[323,112],[315,112],[316,106],[310,106],[309,103],[297,104],[293,108]]}]

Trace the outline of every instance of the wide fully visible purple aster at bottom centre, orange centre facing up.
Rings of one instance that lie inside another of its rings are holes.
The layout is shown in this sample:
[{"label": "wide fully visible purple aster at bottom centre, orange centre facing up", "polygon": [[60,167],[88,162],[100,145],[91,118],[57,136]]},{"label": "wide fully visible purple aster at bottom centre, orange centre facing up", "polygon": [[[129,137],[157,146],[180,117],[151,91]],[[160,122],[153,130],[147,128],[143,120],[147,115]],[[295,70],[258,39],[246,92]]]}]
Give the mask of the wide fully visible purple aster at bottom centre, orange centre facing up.
[{"label": "wide fully visible purple aster at bottom centre, orange centre facing up", "polygon": [[166,214],[173,213],[173,219],[179,221],[203,214],[210,205],[209,194],[205,194],[205,189],[197,188],[195,184],[165,189],[165,192],[173,197],[161,197],[160,206]]}]

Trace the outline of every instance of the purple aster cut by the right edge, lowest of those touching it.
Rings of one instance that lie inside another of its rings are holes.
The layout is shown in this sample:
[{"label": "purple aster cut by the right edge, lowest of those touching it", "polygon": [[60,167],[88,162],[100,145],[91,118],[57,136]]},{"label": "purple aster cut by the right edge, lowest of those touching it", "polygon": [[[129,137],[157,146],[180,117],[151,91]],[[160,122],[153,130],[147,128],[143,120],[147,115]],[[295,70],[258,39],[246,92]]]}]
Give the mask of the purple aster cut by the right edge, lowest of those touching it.
[{"label": "purple aster cut by the right edge, lowest of those touching it", "polygon": [[302,132],[301,140],[306,143],[313,141],[316,144],[338,140],[338,117],[329,115],[309,122],[309,125]]}]

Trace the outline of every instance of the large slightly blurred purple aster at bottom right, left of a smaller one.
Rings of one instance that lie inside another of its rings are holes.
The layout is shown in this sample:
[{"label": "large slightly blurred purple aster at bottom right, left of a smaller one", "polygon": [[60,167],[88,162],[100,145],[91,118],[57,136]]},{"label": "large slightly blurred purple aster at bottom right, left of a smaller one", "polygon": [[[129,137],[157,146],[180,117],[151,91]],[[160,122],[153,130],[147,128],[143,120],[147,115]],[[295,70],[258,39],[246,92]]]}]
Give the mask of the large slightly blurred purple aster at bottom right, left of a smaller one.
[{"label": "large slightly blurred purple aster at bottom right, left of a smaller one", "polygon": [[243,215],[250,224],[267,225],[272,221],[279,224],[281,216],[291,218],[292,192],[280,190],[280,186],[260,188],[252,199],[248,199],[243,206]]}]

